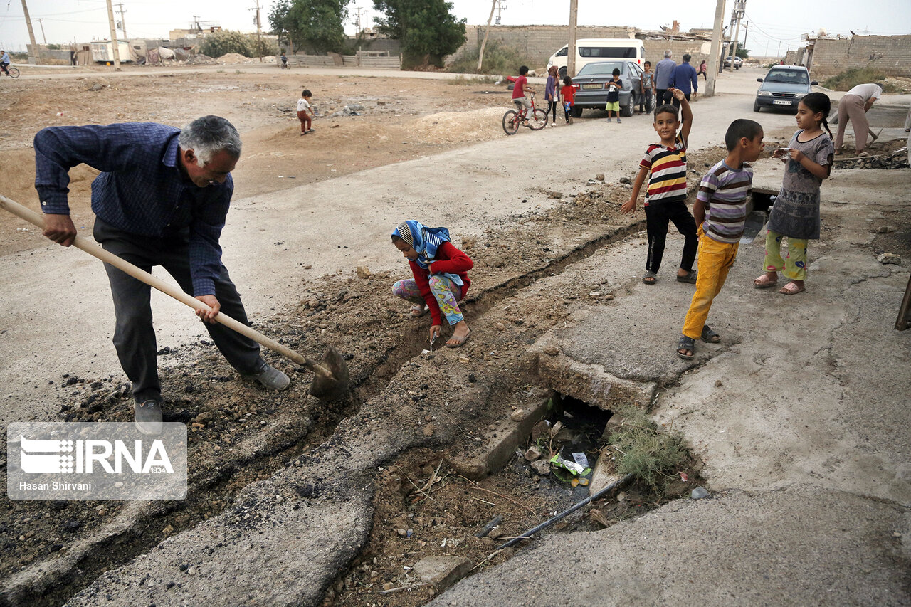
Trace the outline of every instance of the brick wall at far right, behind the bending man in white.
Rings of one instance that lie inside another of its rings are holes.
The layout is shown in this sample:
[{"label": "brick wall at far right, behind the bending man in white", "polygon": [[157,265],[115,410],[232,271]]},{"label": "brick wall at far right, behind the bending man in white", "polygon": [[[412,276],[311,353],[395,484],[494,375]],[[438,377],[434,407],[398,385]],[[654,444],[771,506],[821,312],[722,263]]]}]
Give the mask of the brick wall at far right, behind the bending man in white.
[{"label": "brick wall at far right, behind the bending man in white", "polygon": [[854,36],[815,41],[814,77],[834,76],[852,67],[875,67],[890,76],[911,77],[911,36]]}]

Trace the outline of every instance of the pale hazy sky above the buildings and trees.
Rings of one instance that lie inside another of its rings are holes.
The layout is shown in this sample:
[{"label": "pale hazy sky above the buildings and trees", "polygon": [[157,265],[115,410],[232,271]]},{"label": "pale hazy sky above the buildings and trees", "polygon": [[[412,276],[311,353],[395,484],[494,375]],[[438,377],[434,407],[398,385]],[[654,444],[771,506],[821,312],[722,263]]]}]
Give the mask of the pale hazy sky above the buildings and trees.
[{"label": "pale hazy sky above the buildings and trees", "polygon": [[[115,2],[115,19],[120,19],[119,0]],[[263,26],[268,28],[271,0],[260,0]],[[105,0],[26,0],[38,43],[63,44],[105,39],[109,36]],[[256,31],[256,0],[123,0],[124,21],[130,37],[167,38],[171,29],[188,27],[194,15],[200,21],[217,22],[226,29]],[[453,0],[455,15],[466,17],[469,24],[484,24],[490,14],[491,0]],[[548,24],[566,25],[569,0],[504,0],[501,23],[506,26]],[[681,29],[711,27],[715,0],[661,0],[650,3],[653,11],[643,11],[634,2],[611,0],[578,0],[578,24],[598,26],[637,26],[659,29],[670,26],[674,19]],[[376,15],[372,0],[359,0],[350,5],[351,23],[346,30],[353,32],[355,6],[366,12],[361,15],[373,21]],[[733,0],[725,6],[724,23],[731,19]],[[40,21],[39,21],[40,19]],[[800,46],[800,36],[820,28],[830,34],[911,34],[911,2],[907,0],[747,0],[745,21],[746,46],[753,54],[775,55],[790,45]],[[42,27],[44,33],[42,33]],[[118,31],[118,36],[121,32]],[[744,31],[741,30],[741,40]],[[0,46],[25,50],[28,42],[25,15],[21,0],[7,0],[0,6]],[[556,49],[555,49],[556,50]]]}]

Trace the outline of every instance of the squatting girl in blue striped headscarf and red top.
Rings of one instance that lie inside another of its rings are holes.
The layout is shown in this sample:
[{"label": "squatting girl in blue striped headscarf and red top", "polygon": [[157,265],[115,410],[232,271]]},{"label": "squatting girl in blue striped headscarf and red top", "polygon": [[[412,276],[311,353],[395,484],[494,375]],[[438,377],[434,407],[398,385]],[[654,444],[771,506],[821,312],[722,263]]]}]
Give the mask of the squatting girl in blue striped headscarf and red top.
[{"label": "squatting girl in blue striped headscarf and red top", "polygon": [[446,346],[457,348],[468,340],[471,331],[459,309],[471,280],[468,271],[474,262],[453,246],[445,228],[426,228],[418,221],[399,224],[393,231],[395,248],[402,252],[411,266],[414,279],[398,281],[393,294],[415,304],[411,314],[423,316],[430,312],[430,341],[440,334],[441,315],[452,326],[453,334]]}]

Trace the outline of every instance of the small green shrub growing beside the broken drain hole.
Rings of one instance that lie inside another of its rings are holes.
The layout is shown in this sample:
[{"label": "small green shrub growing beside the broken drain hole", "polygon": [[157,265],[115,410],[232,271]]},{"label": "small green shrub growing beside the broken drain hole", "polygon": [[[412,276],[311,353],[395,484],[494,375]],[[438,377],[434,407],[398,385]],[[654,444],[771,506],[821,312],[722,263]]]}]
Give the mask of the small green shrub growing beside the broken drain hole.
[{"label": "small green shrub growing beside the broken drain hole", "polygon": [[680,437],[660,431],[639,407],[621,406],[614,415],[624,420],[609,438],[617,471],[659,489],[658,481],[680,469],[687,457]]}]

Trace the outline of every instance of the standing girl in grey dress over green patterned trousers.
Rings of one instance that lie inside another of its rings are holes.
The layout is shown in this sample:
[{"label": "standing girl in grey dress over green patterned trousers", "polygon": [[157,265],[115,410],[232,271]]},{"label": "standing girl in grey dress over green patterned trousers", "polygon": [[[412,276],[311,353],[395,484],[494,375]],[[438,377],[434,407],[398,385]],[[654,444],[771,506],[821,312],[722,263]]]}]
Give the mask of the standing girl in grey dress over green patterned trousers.
[{"label": "standing girl in grey dress over green patterned trousers", "polygon": [[[823,93],[810,93],[797,105],[797,126],[800,127],[786,149],[775,150],[775,157],[786,163],[782,190],[775,199],[765,236],[765,273],[753,286],[768,289],[778,283],[778,272],[790,280],[781,291],[783,295],[804,292],[806,278],[806,244],[819,238],[819,189],[832,170],[834,145],[832,131],[825,117],[832,108]],[[825,131],[820,128],[824,127]],[[826,134],[828,133],[828,134]],[[788,239],[787,257],[782,259],[781,247]]]}]

